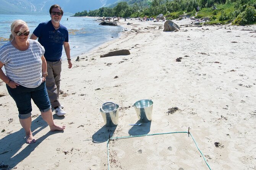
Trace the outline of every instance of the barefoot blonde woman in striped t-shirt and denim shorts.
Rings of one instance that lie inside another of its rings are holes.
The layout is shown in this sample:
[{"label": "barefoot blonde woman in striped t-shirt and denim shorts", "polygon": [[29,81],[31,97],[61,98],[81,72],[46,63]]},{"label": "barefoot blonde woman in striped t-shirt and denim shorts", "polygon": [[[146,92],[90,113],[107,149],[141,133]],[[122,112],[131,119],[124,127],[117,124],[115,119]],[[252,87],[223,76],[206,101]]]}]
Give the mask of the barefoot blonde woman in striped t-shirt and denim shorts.
[{"label": "barefoot blonde woman in striped t-shirt and denim shorts", "polygon": [[0,48],[0,79],[6,83],[8,93],[16,103],[19,122],[26,133],[26,143],[34,143],[36,139],[31,132],[31,99],[51,131],[63,130],[65,126],[53,122],[51,103],[45,87],[47,64],[44,47],[28,39],[28,35],[26,22],[16,20],[11,24],[10,41]]}]

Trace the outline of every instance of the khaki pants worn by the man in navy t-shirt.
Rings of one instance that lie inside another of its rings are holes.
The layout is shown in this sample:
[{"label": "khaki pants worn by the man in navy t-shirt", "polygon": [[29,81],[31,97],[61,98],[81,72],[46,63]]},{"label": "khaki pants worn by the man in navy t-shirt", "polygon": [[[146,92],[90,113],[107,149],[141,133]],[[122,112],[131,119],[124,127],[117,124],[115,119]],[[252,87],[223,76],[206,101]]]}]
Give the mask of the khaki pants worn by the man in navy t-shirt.
[{"label": "khaki pants worn by the man in navy t-shirt", "polygon": [[60,72],[62,71],[62,59],[59,61],[47,61],[46,88],[52,108],[60,106]]}]

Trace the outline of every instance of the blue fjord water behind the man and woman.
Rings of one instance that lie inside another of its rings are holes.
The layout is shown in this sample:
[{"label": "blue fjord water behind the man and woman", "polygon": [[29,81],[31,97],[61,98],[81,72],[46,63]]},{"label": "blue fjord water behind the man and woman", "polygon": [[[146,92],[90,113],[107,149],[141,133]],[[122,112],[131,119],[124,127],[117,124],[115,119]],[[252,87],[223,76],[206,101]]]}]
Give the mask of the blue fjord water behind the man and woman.
[{"label": "blue fjord water behind the man and woman", "polygon": [[[68,20],[67,20],[68,18]],[[50,15],[6,15],[0,14],[0,47],[5,44],[11,32],[11,23],[16,19],[22,19],[27,22],[31,36],[39,23],[49,21]],[[117,38],[122,32],[121,26],[100,26],[100,21],[95,18],[70,17],[63,15],[60,21],[67,27],[69,32],[69,44],[71,58],[75,58],[82,53],[86,53],[93,48],[105,43],[113,38]],[[113,37],[113,38],[112,38]],[[63,48],[62,58],[66,58]]]}]

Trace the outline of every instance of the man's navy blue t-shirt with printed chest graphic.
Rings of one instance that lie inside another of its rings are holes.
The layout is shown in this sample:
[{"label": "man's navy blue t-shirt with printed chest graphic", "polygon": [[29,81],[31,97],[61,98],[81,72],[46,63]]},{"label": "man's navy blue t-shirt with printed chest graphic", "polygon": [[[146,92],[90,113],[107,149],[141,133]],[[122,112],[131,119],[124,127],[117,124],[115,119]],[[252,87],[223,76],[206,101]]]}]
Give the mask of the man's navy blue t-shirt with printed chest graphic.
[{"label": "man's navy blue t-shirt with printed chest graphic", "polygon": [[59,61],[62,56],[63,43],[68,42],[68,29],[60,24],[55,30],[51,21],[42,22],[33,32],[38,42],[44,46],[46,61]]}]

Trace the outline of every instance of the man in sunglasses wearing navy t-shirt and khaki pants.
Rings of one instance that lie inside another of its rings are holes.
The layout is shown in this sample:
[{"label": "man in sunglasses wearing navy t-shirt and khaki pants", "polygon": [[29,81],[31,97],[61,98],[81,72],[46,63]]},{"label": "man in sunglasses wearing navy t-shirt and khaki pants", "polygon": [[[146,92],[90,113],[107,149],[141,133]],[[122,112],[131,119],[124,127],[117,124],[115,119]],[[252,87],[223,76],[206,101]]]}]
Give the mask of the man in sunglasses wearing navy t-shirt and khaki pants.
[{"label": "man in sunglasses wearing navy t-shirt and khaki pants", "polygon": [[52,108],[59,116],[65,115],[62,104],[59,101],[60,73],[62,71],[62,48],[64,46],[68,59],[68,68],[72,67],[70,59],[70,46],[68,43],[68,30],[60,24],[63,11],[59,5],[50,7],[51,20],[39,24],[31,35],[32,40],[36,40],[45,48],[45,59],[47,61],[46,88],[50,98]]}]

